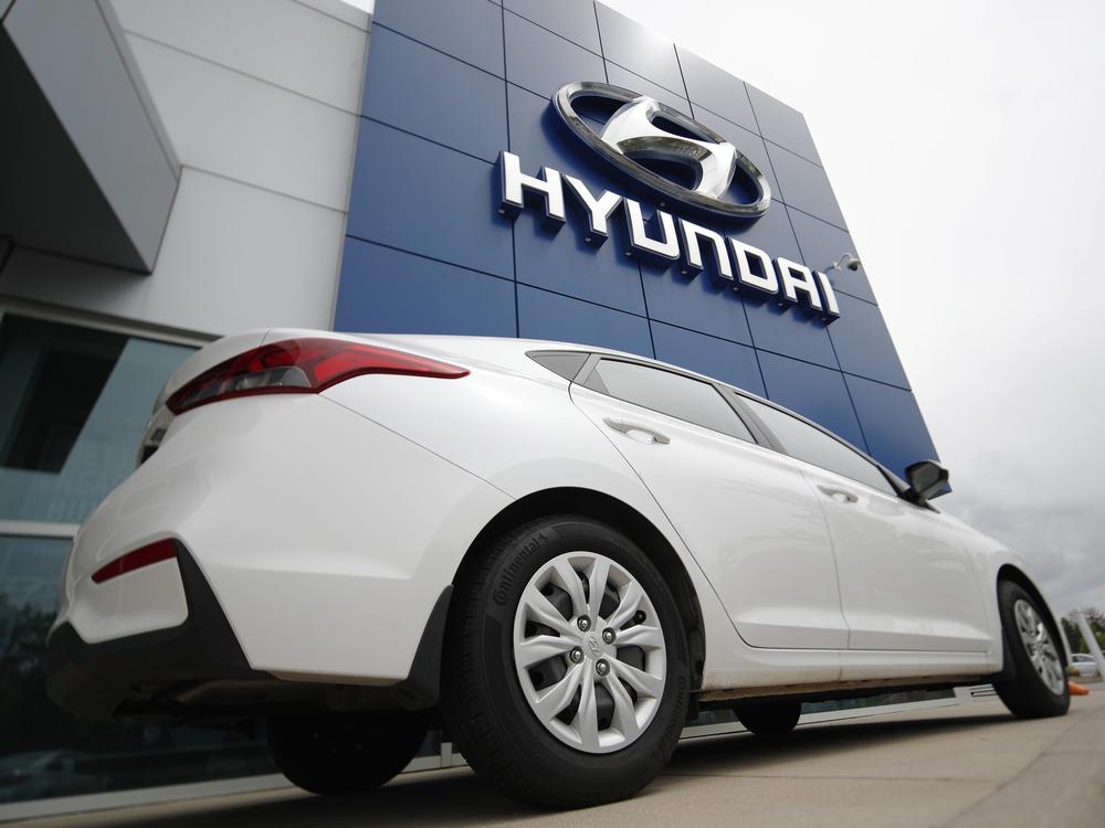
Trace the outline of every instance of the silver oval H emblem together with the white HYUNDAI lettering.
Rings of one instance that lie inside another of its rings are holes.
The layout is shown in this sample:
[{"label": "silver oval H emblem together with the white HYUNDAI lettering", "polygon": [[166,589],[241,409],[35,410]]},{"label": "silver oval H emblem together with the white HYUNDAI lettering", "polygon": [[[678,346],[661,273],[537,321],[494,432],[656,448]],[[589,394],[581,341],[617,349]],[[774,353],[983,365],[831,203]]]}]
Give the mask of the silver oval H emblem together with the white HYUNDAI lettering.
[{"label": "silver oval H emblem together with the white HYUNDAI lettering", "polygon": [[[575,109],[575,102],[585,96],[621,103],[600,132],[592,130]],[[578,82],[559,89],[552,96],[552,107],[587,147],[666,200],[729,221],[755,220],[771,203],[767,179],[736,147],[653,98],[609,84]],[[698,137],[688,138],[664,129],[663,121]],[[634,158],[690,167],[694,173],[693,187],[665,179]],[[550,167],[541,167],[536,176],[527,174],[522,171],[522,159],[514,152],[499,152],[498,167],[502,188],[498,212],[503,215],[517,216],[525,210],[528,195],[530,203],[541,205],[548,223],[564,224],[567,221],[567,190],[586,215],[583,241],[588,244],[599,246],[606,242],[610,236],[610,221],[621,206],[629,231],[627,256],[661,264],[678,262],[683,274],[688,276],[705,270],[709,256],[718,278],[729,283],[734,290],[772,299],[780,306],[797,305],[825,322],[840,317],[832,285],[820,270],[782,256],[772,259],[766,252],[739,238],[723,236],[716,230],[666,210],[656,210],[655,220],[646,222],[639,201],[610,190],[592,193],[579,179]],[[755,183],[758,198],[754,202],[723,200],[738,171]],[[667,201],[662,201],[660,206],[667,206]],[[649,234],[650,225],[654,235]]]}]

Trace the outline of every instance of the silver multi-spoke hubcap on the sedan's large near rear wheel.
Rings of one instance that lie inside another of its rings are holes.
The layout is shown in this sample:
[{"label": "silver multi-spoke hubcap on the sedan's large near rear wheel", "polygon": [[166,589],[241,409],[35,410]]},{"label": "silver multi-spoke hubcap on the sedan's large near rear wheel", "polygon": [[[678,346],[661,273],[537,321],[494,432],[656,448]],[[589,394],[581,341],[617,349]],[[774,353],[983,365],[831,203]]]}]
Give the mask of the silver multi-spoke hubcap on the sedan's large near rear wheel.
[{"label": "silver multi-spoke hubcap on the sedan's large near rear wheel", "polygon": [[645,731],[667,670],[644,588],[613,560],[582,551],[529,580],[515,613],[514,662],[537,720],[586,753],[620,750]]}]

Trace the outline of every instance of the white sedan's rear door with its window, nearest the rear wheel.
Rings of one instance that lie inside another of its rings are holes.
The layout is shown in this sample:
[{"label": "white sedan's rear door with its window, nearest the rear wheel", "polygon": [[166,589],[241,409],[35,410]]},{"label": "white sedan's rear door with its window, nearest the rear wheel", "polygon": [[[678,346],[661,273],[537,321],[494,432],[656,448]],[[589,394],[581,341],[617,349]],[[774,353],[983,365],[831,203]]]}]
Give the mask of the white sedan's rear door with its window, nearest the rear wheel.
[{"label": "white sedan's rear door with its window, nearest the rear wheel", "polygon": [[602,358],[571,399],[640,475],[746,643],[846,647],[817,499],[790,458],[756,444],[716,386]]}]

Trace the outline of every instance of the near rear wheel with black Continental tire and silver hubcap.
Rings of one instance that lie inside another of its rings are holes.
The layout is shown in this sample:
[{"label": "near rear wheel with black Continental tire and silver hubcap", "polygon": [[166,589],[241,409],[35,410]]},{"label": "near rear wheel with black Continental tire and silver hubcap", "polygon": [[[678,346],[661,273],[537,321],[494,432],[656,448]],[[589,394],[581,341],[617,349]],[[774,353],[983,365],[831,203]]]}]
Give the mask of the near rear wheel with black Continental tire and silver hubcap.
[{"label": "near rear wheel with black Continental tire and silver hubcap", "polygon": [[[603,561],[604,588],[592,590]],[[602,596],[593,608],[592,592]],[[445,722],[476,773],[522,802],[579,808],[648,785],[675,749],[688,677],[686,634],[663,576],[632,541],[589,518],[519,527],[457,585]]]}]

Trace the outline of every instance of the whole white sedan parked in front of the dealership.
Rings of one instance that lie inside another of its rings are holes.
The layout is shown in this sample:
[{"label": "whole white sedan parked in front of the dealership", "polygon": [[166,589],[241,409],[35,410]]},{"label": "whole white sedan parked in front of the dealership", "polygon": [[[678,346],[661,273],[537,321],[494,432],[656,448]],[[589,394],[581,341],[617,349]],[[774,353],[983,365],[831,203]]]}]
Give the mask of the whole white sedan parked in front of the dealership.
[{"label": "whole white sedan parked in front of the dealership", "polygon": [[1023,562],[833,434],[708,378],[514,339],[269,330],[169,380],[48,645],[85,716],[267,716],[376,787],[442,723],[507,794],[632,795],[699,710],[991,681],[1070,703]]}]

